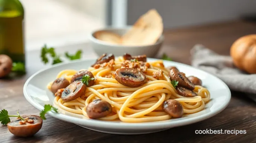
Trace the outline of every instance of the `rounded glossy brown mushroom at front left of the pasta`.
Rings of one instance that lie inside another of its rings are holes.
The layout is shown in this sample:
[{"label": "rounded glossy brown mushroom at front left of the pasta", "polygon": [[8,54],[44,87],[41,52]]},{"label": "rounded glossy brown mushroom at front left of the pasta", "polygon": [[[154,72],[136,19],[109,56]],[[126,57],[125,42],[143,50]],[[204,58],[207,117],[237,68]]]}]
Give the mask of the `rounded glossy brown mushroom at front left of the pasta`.
[{"label": "rounded glossy brown mushroom at front left of the pasta", "polygon": [[112,107],[107,101],[101,99],[93,100],[86,107],[86,113],[89,118],[97,119],[105,117],[112,112]]}]

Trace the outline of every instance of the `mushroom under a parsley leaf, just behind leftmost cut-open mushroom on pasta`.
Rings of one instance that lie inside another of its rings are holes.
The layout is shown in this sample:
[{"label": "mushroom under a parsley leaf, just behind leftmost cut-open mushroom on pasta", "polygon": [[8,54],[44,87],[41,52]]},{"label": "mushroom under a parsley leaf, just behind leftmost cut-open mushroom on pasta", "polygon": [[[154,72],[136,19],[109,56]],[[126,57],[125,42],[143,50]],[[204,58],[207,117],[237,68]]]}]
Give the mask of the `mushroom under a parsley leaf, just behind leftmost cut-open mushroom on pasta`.
[{"label": "mushroom under a parsley leaf, just behind leftmost cut-open mushroom on pasta", "polygon": [[[82,70],[82,71],[76,72],[76,74],[72,76],[70,82],[73,83],[74,81],[82,80],[82,77],[84,75],[88,75],[90,76],[90,78],[94,78],[93,74],[90,71]],[[89,80],[88,85],[86,86],[90,87],[90,86],[93,86],[93,84],[94,84],[94,80]]]}]

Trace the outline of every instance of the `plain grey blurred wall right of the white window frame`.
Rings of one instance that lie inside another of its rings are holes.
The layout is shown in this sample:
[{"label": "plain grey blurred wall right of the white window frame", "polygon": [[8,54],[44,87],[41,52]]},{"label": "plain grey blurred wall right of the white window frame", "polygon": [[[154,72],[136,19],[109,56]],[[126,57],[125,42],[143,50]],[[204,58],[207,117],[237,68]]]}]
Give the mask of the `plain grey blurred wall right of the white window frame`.
[{"label": "plain grey blurred wall right of the white window frame", "polygon": [[256,13],[256,0],[127,0],[128,24],[151,8],[162,15],[165,28],[199,25]]}]

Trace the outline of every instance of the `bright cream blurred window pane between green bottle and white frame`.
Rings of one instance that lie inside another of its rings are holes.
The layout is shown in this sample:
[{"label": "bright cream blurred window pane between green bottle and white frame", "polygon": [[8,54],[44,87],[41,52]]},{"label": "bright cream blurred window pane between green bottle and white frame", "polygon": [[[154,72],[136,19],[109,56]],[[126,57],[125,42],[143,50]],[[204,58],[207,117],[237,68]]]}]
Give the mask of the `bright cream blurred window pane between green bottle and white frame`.
[{"label": "bright cream blurred window pane between green bottle and white frame", "polygon": [[107,25],[107,0],[20,0],[25,11],[26,50],[86,42]]}]

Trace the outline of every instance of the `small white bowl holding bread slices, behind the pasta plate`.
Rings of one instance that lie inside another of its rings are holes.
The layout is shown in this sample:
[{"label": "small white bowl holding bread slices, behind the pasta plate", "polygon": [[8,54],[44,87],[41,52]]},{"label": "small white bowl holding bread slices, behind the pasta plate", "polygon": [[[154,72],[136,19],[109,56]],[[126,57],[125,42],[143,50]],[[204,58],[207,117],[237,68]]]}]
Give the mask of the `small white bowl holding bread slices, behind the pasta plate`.
[{"label": "small white bowl holding bread slices, behind the pasta plate", "polygon": [[96,52],[96,54],[98,54],[98,56],[101,56],[104,53],[112,53],[112,54],[114,54],[114,56],[123,56],[124,53],[129,53],[133,56],[146,54],[147,57],[154,57],[157,54],[157,52],[159,51],[159,49],[163,43],[163,40],[164,40],[163,35],[160,36],[160,38],[158,39],[158,41],[155,44],[143,45],[143,46],[125,46],[125,45],[111,44],[111,43],[96,39],[94,37],[94,33],[99,32],[99,31],[107,31],[107,32],[113,32],[113,33],[117,33],[119,35],[123,35],[130,28],[131,28],[131,26],[128,26],[126,28],[105,28],[105,29],[93,31],[89,35],[91,47]]}]

